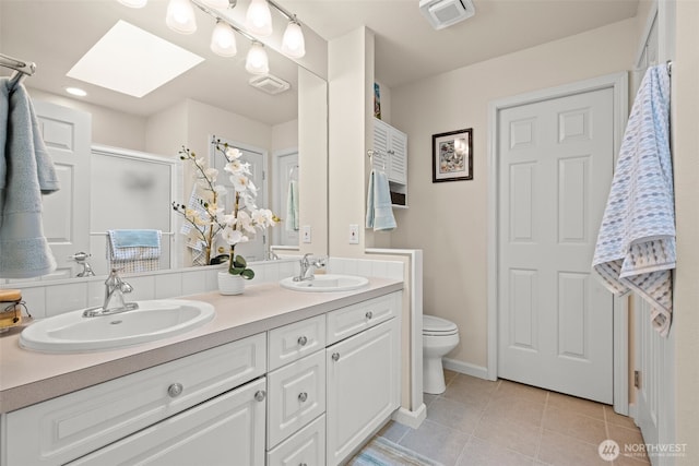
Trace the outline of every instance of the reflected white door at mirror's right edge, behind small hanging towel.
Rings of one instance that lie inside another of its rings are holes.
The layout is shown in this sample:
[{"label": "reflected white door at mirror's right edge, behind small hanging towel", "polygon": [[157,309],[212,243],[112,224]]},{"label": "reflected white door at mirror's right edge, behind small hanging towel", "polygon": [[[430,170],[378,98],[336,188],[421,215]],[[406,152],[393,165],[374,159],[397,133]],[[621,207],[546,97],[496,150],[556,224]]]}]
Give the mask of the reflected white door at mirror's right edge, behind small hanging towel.
[{"label": "reflected white door at mirror's right edge, behind small hanging towel", "polygon": [[[298,191],[298,152],[277,154],[274,157],[274,203],[272,211],[282,218],[282,224],[274,228],[274,244],[299,246],[298,225],[289,222],[292,214],[288,206],[289,191],[292,182],[296,183],[295,192]],[[296,213],[298,215],[298,212]]]}]

